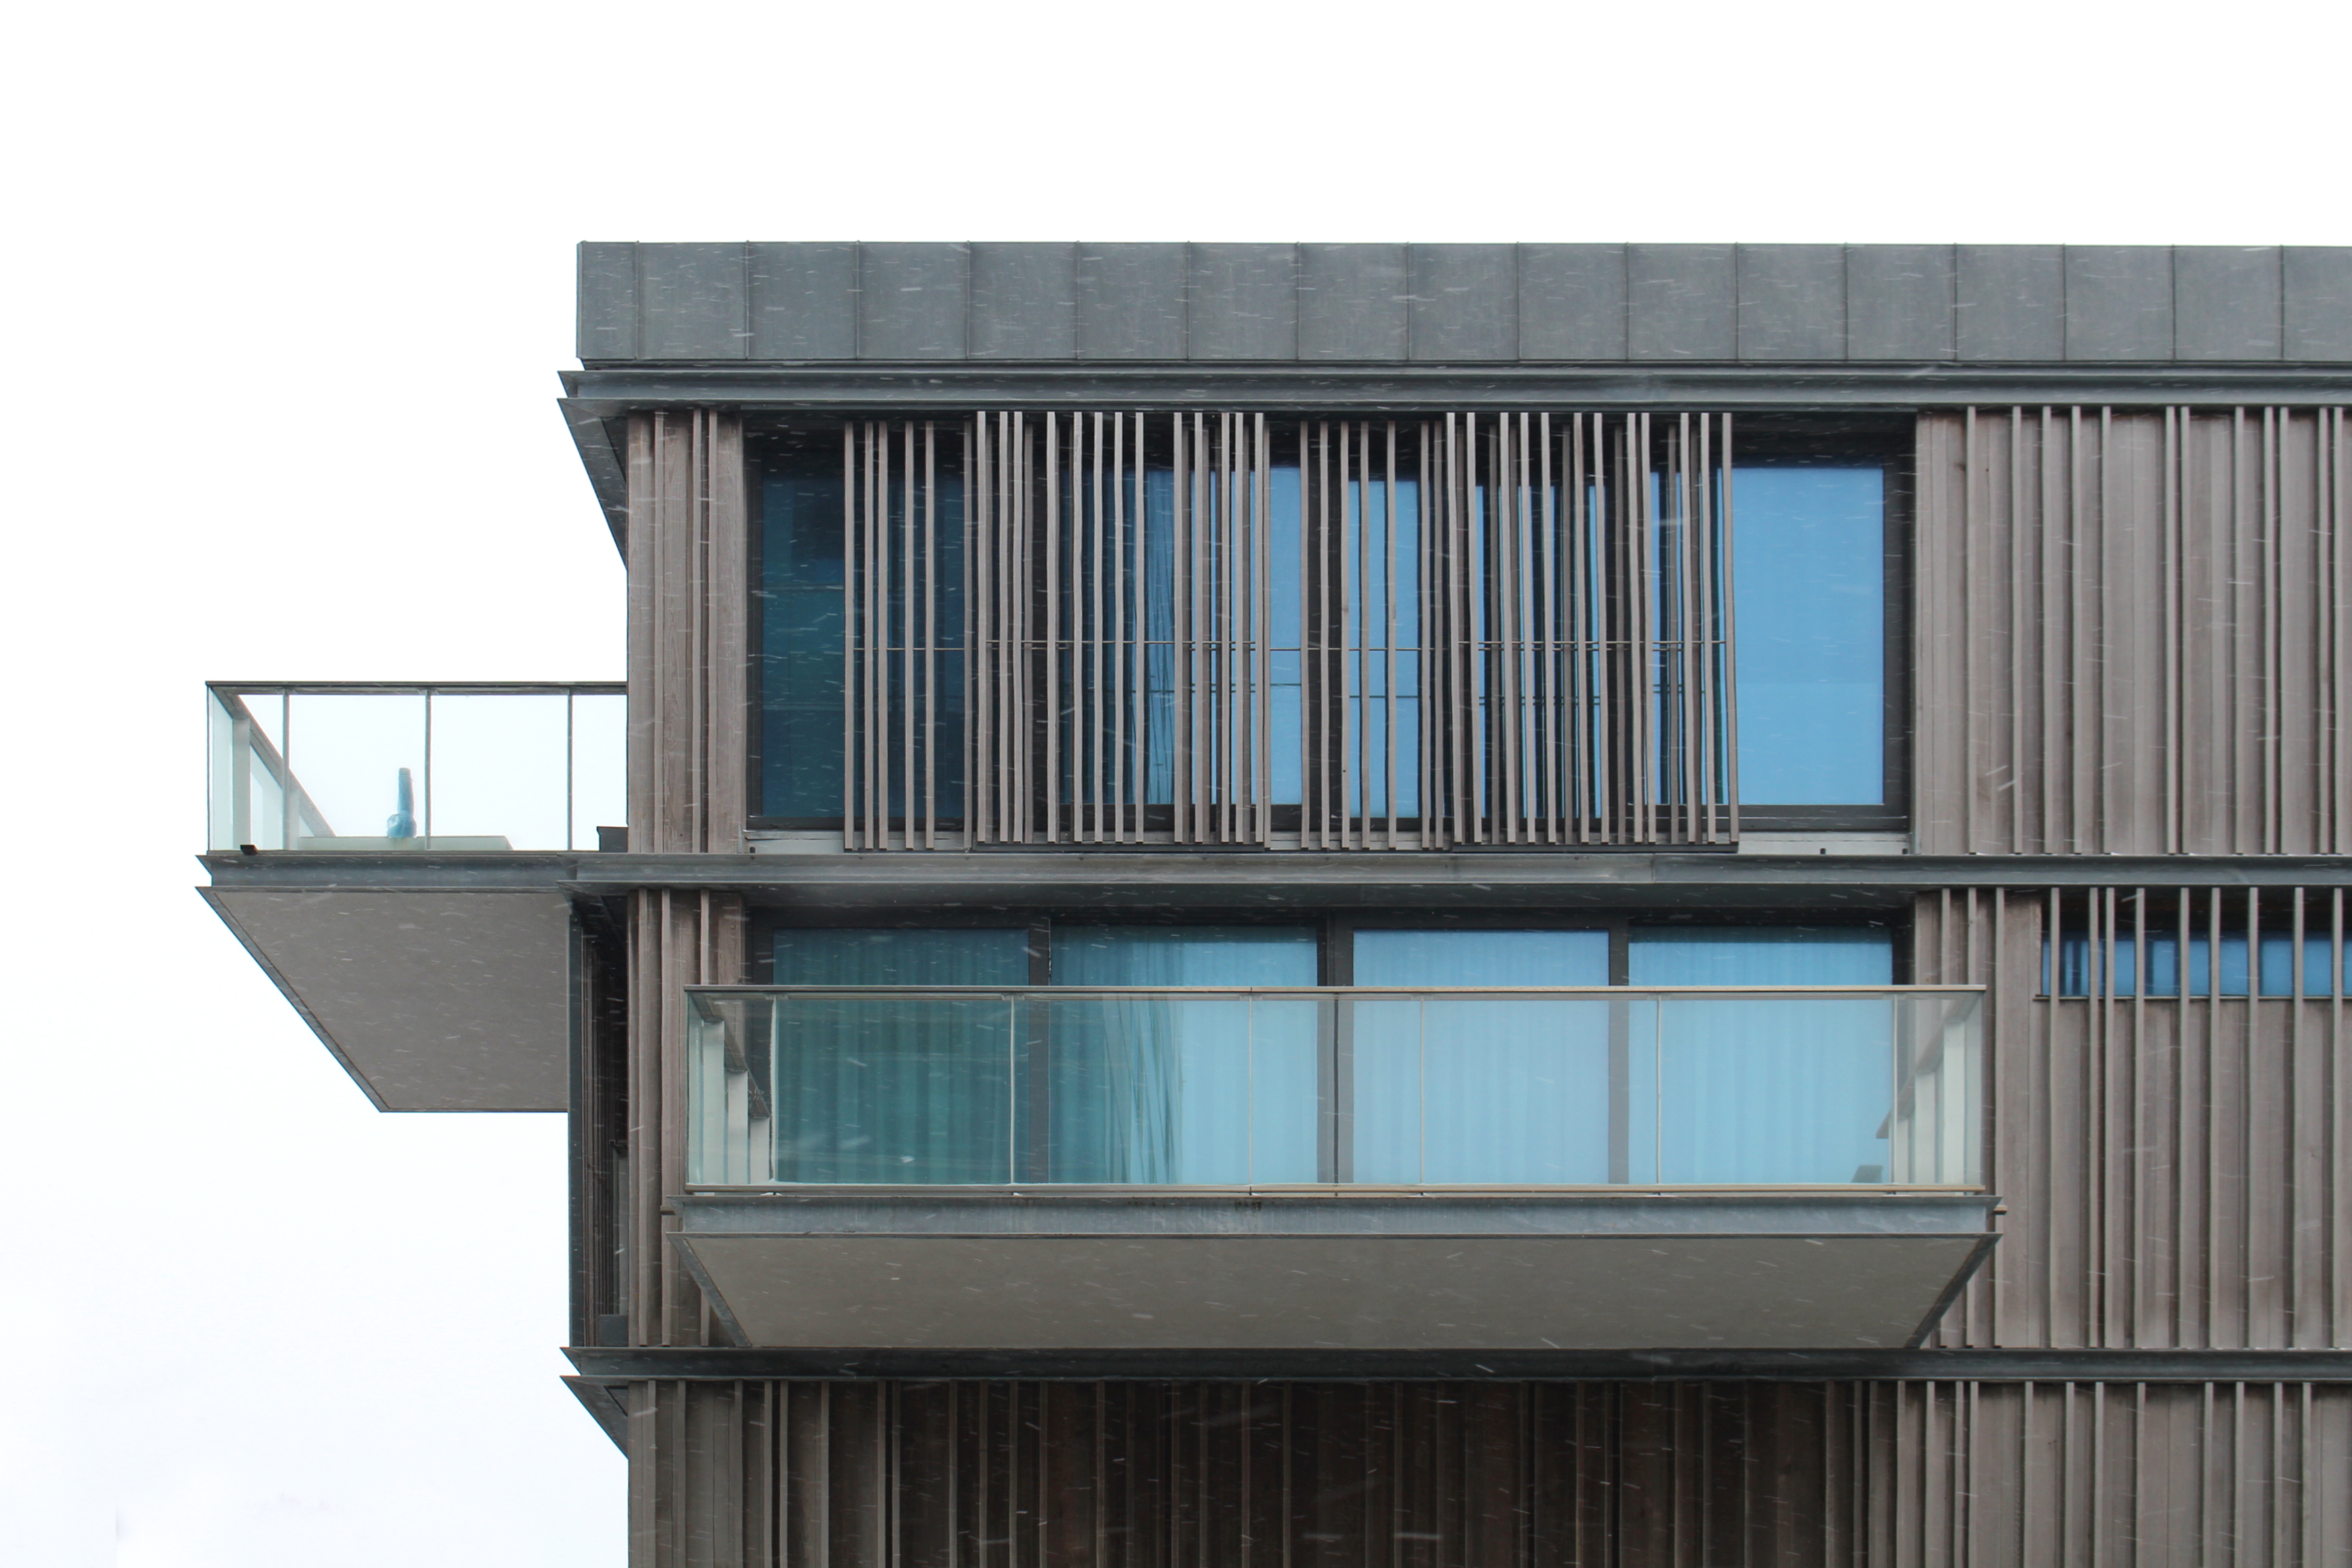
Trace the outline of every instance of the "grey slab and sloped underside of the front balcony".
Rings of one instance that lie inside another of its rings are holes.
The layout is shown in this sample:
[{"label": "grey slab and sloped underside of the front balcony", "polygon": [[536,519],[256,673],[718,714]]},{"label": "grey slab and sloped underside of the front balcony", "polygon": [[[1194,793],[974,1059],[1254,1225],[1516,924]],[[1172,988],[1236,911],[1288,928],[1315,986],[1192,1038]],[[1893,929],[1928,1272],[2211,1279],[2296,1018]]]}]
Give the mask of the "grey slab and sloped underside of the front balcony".
[{"label": "grey slab and sloped underside of the front balcony", "polygon": [[706,1192],[746,1347],[1893,1349],[1992,1246],[1955,1192]]}]

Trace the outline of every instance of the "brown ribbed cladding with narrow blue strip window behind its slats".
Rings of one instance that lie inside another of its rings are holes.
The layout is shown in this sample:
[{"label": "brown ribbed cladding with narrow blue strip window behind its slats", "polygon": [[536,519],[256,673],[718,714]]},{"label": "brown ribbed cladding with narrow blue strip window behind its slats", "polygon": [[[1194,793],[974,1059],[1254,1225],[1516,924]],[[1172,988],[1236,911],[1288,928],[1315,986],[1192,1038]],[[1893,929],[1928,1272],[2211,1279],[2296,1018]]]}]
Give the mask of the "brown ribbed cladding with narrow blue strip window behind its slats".
[{"label": "brown ribbed cladding with narrow blue strip window behind its slats", "polygon": [[1931,1345],[2352,1345],[2345,903],[1919,898],[1915,978],[1990,990],[1987,1185],[2006,1206]]}]

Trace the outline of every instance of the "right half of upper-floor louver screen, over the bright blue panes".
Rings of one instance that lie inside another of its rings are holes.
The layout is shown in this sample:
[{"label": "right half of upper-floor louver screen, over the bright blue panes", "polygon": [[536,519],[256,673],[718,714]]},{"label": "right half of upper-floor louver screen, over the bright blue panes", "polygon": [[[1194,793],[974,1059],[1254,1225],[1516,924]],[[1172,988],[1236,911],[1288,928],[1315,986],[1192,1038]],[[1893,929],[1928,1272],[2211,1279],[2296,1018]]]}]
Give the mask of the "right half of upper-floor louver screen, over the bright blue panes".
[{"label": "right half of upper-floor louver screen, over the bright blue panes", "polygon": [[1303,846],[1729,842],[1729,458],[1710,414],[1308,425]]}]

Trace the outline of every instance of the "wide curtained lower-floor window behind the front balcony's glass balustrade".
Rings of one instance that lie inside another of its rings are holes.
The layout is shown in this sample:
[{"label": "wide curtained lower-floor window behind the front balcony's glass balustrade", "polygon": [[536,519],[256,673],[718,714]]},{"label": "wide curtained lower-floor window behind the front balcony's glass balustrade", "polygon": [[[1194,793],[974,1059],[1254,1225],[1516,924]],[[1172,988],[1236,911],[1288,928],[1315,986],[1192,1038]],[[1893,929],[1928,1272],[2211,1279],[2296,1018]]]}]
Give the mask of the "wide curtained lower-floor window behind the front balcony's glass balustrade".
[{"label": "wide curtained lower-floor window behind the front balcony's glass balustrade", "polygon": [[[783,1180],[1837,1185],[1900,1164],[1910,1025],[1872,990],[1896,978],[1882,926],[1040,919],[783,926],[769,952],[779,985],[842,987],[793,997],[753,1070]],[[1350,971],[1338,1001],[1263,994]]]}]

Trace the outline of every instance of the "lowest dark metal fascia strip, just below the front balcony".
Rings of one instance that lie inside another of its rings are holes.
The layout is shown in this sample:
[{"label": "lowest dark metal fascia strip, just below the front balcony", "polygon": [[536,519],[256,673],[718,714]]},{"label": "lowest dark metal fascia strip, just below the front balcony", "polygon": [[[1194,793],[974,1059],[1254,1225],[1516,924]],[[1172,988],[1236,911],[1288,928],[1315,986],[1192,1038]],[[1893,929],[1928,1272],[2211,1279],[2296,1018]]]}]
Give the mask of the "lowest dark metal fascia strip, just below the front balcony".
[{"label": "lowest dark metal fascia strip, just below the front balcony", "polygon": [[586,1378],[2352,1382],[2352,1349],[590,1349]]}]

